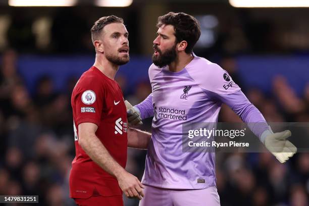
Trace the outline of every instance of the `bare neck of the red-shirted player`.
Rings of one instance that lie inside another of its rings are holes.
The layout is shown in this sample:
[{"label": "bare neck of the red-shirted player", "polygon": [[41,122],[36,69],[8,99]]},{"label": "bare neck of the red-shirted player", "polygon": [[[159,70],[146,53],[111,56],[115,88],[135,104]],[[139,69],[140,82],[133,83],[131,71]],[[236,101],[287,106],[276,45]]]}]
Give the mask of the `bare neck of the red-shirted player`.
[{"label": "bare neck of the red-shirted player", "polygon": [[103,74],[105,74],[105,76],[113,80],[115,79],[115,75],[119,69],[119,65],[113,64],[101,54],[95,55],[95,61],[93,66],[100,70]]}]

